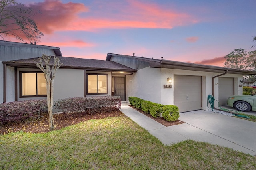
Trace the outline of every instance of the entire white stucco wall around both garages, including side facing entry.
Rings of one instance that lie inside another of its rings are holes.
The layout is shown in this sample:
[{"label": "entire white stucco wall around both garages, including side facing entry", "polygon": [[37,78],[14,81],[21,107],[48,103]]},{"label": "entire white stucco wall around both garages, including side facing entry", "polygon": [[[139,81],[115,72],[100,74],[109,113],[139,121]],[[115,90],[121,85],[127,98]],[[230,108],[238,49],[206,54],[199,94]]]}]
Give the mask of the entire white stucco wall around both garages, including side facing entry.
[{"label": "entire white stucco wall around both garages, including side facing entry", "polygon": [[[212,95],[212,77],[220,75],[221,73],[211,73],[202,71],[187,71],[178,69],[156,69],[146,67],[138,70],[133,75],[127,75],[126,87],[127,87],[127,101],[129,96],[135,96],[144,100],[149,100],[164,105],[173,105],[174,103],[174,87],[175,81],[174,75],[193,75],[202,76],[202,109],[208,110],[207,98],[208,95]],[[172,83],[167,82],[167,77],[172,78]],[[242,79],[242,75],[227,74],[222,77],[234,78],[234,91],[235,95],[242,95],[242,87],[238,87],[239,80]],[[189,82],[188,82],[189,83]],[[171,84],[172,88],[164,89],[163,85]],[[218,77],[214,82],[215,99],[218,100]],[[218,107],[218,103],[215,103],[215,107]]]}]

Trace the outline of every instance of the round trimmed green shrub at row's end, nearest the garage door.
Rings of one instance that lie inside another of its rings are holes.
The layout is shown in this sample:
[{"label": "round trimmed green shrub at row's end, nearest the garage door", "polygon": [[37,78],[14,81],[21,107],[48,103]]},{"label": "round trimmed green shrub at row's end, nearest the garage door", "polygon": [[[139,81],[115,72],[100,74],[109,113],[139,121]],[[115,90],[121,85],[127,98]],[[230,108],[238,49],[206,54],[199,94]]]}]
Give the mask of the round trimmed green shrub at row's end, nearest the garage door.
[{"label": "round trimmed green shrub at row's end, nearest the garage door", "polygon": [[162,117],[166,121],[176,121],[180,117],[179,108],[174,105],[164,105],[162,107]]}]

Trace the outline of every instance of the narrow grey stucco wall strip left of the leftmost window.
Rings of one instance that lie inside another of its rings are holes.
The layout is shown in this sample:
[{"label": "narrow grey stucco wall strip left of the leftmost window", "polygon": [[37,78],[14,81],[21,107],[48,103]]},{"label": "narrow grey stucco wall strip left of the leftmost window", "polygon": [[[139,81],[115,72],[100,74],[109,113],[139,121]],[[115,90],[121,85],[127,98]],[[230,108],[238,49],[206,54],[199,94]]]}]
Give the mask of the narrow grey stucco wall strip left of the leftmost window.
[{"label": "narrow grey stucco wall strip left of the leftmost window", "polygon": [[15,100],[15,74],[14,67],[6,67],[6,102]]}]

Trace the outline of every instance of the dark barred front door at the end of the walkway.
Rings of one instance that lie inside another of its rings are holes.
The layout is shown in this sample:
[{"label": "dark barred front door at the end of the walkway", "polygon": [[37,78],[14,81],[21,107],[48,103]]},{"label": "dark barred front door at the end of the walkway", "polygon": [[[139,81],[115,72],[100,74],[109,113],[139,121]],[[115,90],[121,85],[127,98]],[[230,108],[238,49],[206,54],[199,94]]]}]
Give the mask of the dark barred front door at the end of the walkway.
[{"label": "dark barred front door at the end of the walkway", "polygon": [[120,96],[125,101],[125,77],[114,78],[114,96]]}]

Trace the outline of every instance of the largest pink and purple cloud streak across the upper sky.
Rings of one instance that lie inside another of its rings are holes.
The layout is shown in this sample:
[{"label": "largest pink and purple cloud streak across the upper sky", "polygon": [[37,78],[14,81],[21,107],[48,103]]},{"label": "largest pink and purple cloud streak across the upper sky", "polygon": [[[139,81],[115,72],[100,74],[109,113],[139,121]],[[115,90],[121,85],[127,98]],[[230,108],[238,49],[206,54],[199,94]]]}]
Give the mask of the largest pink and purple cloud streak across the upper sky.
[{"label": "largest pink and purple cloud streak across the upper sky", "polygon": [[[54,31],[95,31],[105,28],[173,28],[198,22],[192,16],[186,13],[165,10],[156,4],[140,1],[126,1],[127,4],[108,3],[108,9],[118,10],[116,13],[104,15],[100,14],[100,8],[95,11],[89,11],[88,7],[81,3],[46,0],[30,4],[34,11],[40,11],[41,14],[34,16],[38,28],[44,34],[52,34]],[[96,3],[97,4],[97,3]],[[112,4],[113,5],[113,4]],[[106,9],[106,7],[105,7]],[[132,11],[132,12],[131,12]],[[96,14],[97,13],[97,14]],[[91,14],[90,17],[82,14]]]}]

